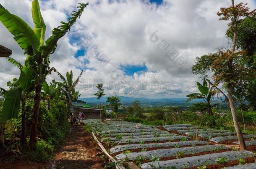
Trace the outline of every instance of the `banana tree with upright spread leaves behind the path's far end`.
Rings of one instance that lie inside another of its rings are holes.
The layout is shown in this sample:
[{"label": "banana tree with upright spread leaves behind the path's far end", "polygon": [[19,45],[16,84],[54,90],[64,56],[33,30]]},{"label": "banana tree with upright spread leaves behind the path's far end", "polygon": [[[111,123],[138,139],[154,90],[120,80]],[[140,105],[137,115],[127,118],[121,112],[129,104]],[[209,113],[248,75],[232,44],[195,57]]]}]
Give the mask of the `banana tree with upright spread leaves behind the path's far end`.
[{"label": "banana tree with upright spread leaves behind the path's far end", "polygon": [[62,88],[62,93],[65,96],[66,106],[68,108],[68,112],[67,112],[68,114],[70,114],[70,106],[72,106],[72,102],[78,101],[77,99],[80,96],[79,92],[75,91],[75,87],[78,84],[78,81],[81,78],[82,74],[83,74],[83,71],[81,71],[76,81],[73,82],[72,71],[66,73],[66,78],[64,78],[64,76],[57,71],[57,75],[63,81],[61,88]]}]

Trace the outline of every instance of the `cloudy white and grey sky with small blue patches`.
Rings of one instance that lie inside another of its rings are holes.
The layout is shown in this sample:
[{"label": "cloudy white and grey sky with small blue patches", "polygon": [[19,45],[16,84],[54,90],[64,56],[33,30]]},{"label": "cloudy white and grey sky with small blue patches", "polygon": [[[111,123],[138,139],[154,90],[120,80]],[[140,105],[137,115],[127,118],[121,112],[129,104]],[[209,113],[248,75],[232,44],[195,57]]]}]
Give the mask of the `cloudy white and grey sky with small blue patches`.
[{"label": "cloudy white and grey sky with small blue patches", "polygon": [[[40,0],[46,39],[84,0]],[[89,0],[89,6],[59,40],[50,66],[65,75],[83,76],[76,87],[81,97],[94,97],[97,83],[106,96],[185,98],[197,92],[199,77],[191,74],[195,58],[229,47],[227,21],[216,15],[231,0]],[[235,0],[256,8],[255,0]],[[31,0],[0,3],[34,28]],[[24,63],[24,51],[0,23],[0,44]],[[19,76],[18,68],[0,58],[0,87]],[[56,73],[47,76],[60,81]]]}]

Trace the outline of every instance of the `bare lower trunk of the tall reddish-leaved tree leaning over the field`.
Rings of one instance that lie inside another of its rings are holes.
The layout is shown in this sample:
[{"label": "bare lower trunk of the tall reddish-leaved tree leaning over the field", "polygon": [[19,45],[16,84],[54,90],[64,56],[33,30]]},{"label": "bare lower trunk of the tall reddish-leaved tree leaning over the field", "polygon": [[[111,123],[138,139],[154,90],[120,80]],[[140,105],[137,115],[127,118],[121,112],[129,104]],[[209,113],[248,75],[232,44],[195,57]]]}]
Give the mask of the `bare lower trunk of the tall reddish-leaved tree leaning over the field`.
[{"label": "bare lower trunk of the tall reddish-leaved tree leaning over the field", "polygon": [[240,146],[241,150],[246,150],[246,143],[244,141],[242,131],[239,127],[238,117],[237,117],[236,110],[235,110],[235,103],[234,103],[234,98],[232,96],[232,85],[231,84],[229,84],[227,86],[227,93],[228,93],[228,99],[229,99],[229,103],[230,103],[231,114],[232,114],[232,118],[234,121],[235,131],[238,136],[239,146]]}]

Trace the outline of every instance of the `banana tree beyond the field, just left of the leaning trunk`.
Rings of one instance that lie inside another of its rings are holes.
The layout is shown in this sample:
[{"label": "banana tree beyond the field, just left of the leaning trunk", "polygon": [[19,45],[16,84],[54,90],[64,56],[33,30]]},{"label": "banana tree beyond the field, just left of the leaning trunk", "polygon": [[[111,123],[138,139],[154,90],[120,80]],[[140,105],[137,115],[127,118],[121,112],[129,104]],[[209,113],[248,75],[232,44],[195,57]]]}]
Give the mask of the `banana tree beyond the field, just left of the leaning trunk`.
[{"label": "banana tree beyond the field, just left of the leaning trunk", "polygon": [[198,89],[201,93],[191,93],[188,94],[187,97],[188,99],[186,100],[186,102],[189,102],[193,99],[203,99],[204,102],[199,103],[202,106],[202,109],[207,109],[208,113],[210,116],[213,116],[213,112],[212,112],[212,108],[217,106],[218,104],[211,104],[212,102],[212,96],[214,96],[215,91],[212,90],[212,87],[208,87],[208,84],[206,81],[203,82],[203,84],[196,82],[196,85],[198,86]]}]

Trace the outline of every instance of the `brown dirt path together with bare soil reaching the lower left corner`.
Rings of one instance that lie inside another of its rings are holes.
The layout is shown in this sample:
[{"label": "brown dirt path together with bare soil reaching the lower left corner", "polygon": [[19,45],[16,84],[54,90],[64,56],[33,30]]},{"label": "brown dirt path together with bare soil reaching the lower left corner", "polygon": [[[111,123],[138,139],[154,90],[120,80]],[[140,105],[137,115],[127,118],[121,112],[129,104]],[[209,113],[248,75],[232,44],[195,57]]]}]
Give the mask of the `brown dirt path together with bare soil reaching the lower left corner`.
[{"label": "brown dirt path together with bare soil reaching the lower left corner", "polygon": [[[24,160],[0,161],[0,169],[102,169],[98,144],[82,126],[71,128],[65,144],[50,162],[28,162]],[[1,152],[0,152],[1,153]]]}]

